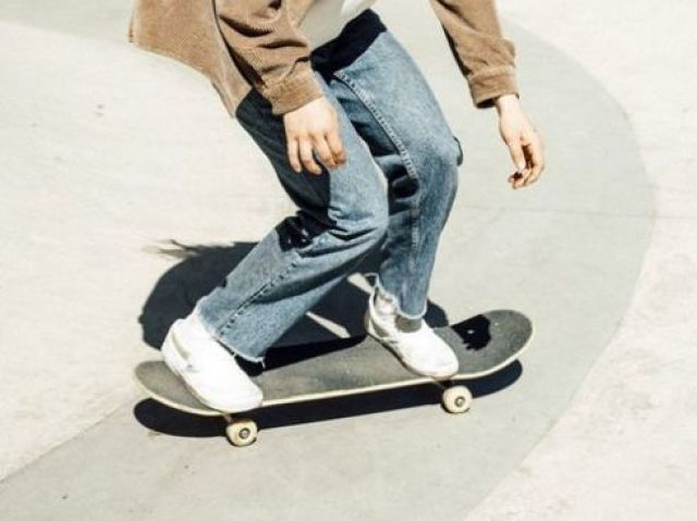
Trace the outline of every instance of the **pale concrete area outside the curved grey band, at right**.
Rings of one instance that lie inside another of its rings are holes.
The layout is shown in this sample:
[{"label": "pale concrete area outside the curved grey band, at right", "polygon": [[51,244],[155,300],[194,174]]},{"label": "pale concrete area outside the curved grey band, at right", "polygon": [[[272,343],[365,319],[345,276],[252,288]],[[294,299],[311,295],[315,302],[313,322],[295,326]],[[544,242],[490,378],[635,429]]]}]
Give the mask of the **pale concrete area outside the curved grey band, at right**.
[{"label": "pale concrete area outside the curved grey band, at right", "polygon": [[[503,3],[503,2],[502,2]],[[697,491],[697,35],[690,2],[527,0],[508,20],[598,77],[627,113],[657,199],[636,291],[570,408],[472,520],[692,520]],[[589,37],[592,34],[594,37]]]}]

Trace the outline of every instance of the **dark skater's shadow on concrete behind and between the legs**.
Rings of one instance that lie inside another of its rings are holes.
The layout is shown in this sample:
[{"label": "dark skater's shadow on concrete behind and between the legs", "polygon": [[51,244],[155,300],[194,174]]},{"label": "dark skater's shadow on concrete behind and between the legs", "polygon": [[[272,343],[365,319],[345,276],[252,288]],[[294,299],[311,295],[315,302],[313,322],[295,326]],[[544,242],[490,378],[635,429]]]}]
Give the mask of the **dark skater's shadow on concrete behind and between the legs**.
[{"label": "dark skater's shadow on concrete behind and between the legs", "polygon": [[[143,340],[159,349],[170,325],[186,317],[196,301],[221,285],[232,270],[242,262],[256,243],[233,243],[230,246],[185,245],[170,239],[162,246],[150,249],[155,255],[179,259],[155,284],[148,295],[138,322],[143,328]],[[375,272],[379,261],[375,248],[360,264],[356,273]],[[367,306],[367,293],[344,278],[320,300],[310,313],[334,324],[340,324],[351,337],[365,334],[363,313]],[[448,317],[442,308],[429,302],[426,315],[432,326],[447,325]],[[334,332],[305,314],[274,343],[274,347],[297,346],[342,338]]]}]

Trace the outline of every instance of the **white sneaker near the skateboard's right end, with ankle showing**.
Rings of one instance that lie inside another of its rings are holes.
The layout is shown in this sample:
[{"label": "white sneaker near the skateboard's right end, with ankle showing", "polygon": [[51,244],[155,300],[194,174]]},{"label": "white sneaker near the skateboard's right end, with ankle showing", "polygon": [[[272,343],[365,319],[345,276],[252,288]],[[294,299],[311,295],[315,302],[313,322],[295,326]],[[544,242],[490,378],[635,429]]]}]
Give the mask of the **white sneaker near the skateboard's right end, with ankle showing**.
[{"label": "white sneaker near the skateboard's right end, with ankle showing", "polygon": [[458,369],[457,357],[445,340],[423,319],[416,331],[400,325],[395,308],[375,287],[364,319],[366,332],[392,350],[415,373],[438,380],[454,375]]}]

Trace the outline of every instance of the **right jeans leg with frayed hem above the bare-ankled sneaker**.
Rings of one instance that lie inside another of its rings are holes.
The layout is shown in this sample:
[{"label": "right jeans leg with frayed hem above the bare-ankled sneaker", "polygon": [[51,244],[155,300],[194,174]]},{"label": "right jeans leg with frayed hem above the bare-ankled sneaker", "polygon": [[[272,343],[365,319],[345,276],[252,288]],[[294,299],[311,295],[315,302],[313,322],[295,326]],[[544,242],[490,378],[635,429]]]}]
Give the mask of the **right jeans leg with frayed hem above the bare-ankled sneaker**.
[{"label": "right jeans leg with frayed hem above the bare-ankled sneaker", "polygon": [[416,63],[372,10],[354,18],[317,65],[388,178],[377,284],[401,315],[419,319],[457,188],[460,141]]}]

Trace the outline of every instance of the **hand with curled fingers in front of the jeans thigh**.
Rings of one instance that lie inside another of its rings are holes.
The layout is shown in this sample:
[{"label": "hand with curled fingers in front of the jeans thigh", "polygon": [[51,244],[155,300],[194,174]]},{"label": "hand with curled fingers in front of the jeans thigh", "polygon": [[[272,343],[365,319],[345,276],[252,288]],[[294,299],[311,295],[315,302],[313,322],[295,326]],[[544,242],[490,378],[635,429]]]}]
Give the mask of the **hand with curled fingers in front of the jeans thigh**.
[{"label": "hand with curled fingers in front of the jeans thigh", "polygon": [[288,159],[295,172],[302,171],[302,163],[313,174],[322,173],[313,157],[313,149],[328,169],[346,162],[339,133],[339,116],[323,96],[283,114],[283,124]]}]

